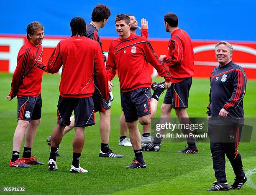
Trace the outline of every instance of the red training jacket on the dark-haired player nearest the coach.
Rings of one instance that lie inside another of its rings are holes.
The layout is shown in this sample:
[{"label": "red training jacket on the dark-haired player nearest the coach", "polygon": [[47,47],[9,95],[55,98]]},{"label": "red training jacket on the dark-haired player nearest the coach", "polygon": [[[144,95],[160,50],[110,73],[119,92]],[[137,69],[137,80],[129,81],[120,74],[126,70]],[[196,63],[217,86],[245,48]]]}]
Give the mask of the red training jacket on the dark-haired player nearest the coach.
[{"label": "red training jacket on the dark-haired player nearest the coach", "polygon": [[168,56],[164,57],[163,62],[172,72],[172,83],[194,76],[194,51],[186,31],[177,29],[172,32],[168,50]]}]

